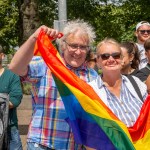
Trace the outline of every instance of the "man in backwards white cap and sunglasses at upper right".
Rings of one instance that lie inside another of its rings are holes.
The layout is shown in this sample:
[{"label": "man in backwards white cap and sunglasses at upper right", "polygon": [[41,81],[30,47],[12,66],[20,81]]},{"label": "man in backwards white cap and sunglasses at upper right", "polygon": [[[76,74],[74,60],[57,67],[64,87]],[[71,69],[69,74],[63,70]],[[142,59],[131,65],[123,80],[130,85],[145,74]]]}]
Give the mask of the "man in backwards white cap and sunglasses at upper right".
[{"label": "man in backwards white cap and sunglasses at upper right", "polygon": [[137,38],[137,46],[140,53],[140,65],[139,69],[144,68],[147,64],[147,58],[145,56],[144,43],[150,38],[150,23],[147,21],[141,21],[136,25],[135,36]]}]

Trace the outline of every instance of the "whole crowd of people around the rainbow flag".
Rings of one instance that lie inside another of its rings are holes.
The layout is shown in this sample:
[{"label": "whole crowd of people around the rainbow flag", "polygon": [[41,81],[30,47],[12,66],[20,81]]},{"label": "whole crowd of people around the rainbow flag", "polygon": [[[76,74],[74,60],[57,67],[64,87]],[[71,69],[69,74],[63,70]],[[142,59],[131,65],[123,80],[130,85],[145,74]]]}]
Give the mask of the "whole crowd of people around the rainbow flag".
[{"label": "whole crowd of people around the rainbow flag", "polygon": [[[115,39],[105,38],[97,44],[96,53],[91,52],[95,32],[87,22],[68,22],[63,37],[60,37],[57,30],[43,25],[15,53],[9,69],[2,68],[0,64],[0,80],[7,78],[7,74],[16,80],[11,81],[12,84],[15,82],[12,86],[15,88],[12,89],[13,95],[11,90],[3,91],[0,87],[0,92],[10,94],[11,131],[17,131],[19,140],[12,144],[16,145],[16,150],[22,149],[16,115],[16,107],[22,99],[19,76],[22,82],[32,84],[33,113],[28,129],[27,149],[92,149],[75,143],[71,127],[65,120],[66,110],[51,70],[42,57],[34,56],[34,45],[41,29],[54,40],[60,38],[58,44],[66,67],[87,82],[127,127],[133,126],[144,100],[150,94],[150,23],[141,21],[137,24],[137,42],[118,43]],[[0,51],[0,62],[2,58],[3,53]],[[132,76],[137,83],[142,100],[127,75]]]}]

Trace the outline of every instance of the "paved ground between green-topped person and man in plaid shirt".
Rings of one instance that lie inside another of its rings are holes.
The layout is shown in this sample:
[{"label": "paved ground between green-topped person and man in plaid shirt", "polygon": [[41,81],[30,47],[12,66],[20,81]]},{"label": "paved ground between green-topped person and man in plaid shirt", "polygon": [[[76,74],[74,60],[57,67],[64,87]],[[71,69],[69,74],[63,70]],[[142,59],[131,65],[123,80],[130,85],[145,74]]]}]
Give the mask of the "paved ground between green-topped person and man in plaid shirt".
[{"label": "paved ground between green-topped person and man in plaid shirt", "polygon": [[28,125],[32,114],[31,96],[24,95],[20,106],[17,109],[19,131],[22,140],[23,150],[26,150],[26,136]]}]

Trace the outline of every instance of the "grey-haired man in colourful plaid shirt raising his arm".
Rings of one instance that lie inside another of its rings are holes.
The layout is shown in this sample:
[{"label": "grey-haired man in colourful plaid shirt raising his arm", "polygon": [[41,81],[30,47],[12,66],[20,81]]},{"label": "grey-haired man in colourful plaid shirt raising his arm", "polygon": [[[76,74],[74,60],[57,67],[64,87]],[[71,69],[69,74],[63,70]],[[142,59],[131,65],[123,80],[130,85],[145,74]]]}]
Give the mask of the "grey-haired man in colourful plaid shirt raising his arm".
[{"label": "grey-haired man in colourful plaid shirt raising his arm", "polygon": [[[29,125],[27,149],[83,149],[82,145],[75,144],[72,130],[65,120],[66,111],[51,71],[41,57],[32,59],[34,45],[41,29],[53,39],[60,35],[55,29],[39,27],[16,52],[9,65],[12,71],[33,86],[33,114]],[[86,82],[97,77],[97,72],[86,65],[86,57],[94,38],[95,33],[88,23],[75,20],[66,24],[63,37],[58,41],[66,67]]]}]

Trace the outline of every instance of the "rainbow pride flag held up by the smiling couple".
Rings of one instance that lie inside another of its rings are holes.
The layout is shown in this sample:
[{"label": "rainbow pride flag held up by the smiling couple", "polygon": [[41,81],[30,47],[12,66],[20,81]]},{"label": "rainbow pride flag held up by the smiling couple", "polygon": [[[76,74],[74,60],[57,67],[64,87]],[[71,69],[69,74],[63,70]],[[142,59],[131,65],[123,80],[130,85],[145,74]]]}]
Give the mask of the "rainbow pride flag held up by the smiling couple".
[{"label": "rainbow pride flag held up by the smiling couple", "polygon": [[53,73],[76,143],[97,150],[148,150],[150,146],[150,96],[140,116],[127,128],[97,96],[95,91],[68,70],[57,49],[43,31],[36,47]]}]

